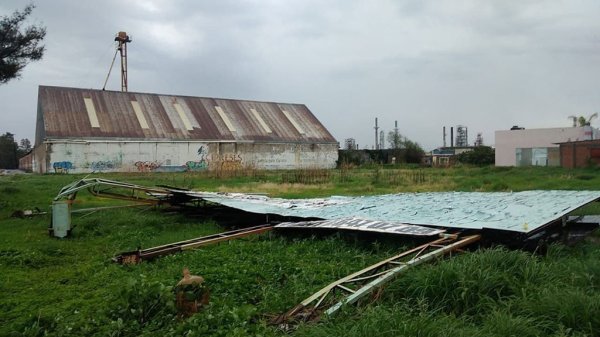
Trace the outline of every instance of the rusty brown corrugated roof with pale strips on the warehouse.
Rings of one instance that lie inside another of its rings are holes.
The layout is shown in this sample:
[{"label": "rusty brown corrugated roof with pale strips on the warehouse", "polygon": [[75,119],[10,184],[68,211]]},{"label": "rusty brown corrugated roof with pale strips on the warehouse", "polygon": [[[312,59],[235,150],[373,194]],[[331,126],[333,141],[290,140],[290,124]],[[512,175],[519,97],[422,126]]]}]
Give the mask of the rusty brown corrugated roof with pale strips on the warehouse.
[{"label": "rusty brown corrugated roof with pale strips on the warehouse", "polygon": [[52,139],[336,142],[303,104],[52,86],[39,87],[37,127]]}]

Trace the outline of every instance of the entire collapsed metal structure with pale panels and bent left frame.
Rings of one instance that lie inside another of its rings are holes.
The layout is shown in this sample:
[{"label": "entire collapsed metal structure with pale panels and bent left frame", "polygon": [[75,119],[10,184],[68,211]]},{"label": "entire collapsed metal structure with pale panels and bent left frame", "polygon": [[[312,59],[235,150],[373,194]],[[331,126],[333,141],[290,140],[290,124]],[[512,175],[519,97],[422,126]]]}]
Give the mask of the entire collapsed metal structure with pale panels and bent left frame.
[{"label": "entire collapsed metal structure with pale panels and bent left frame", "polygon": [[[351,229],[413,236],[437,235],[444,229],[493,229],[529,235],[546,225],[580,222],[581,217],[569,217],[569,214],[588,203],[600,200],[600,191],[559,190],[427,192],[283,199],[257,194],[190,191],[167,186],[145,187],[84,178],[63,187],[54,201],[60,205],[61,199],[72,200],[83,189],[95,196],[151,204],[191,203],[197,206],[205,205],[197,203],[205,200],[258,215],[287,218],[283,221],[289,222],[279,224],[280,228]],[[583,222],[591,221],[597,227],[597,219],[588,220]]]}]

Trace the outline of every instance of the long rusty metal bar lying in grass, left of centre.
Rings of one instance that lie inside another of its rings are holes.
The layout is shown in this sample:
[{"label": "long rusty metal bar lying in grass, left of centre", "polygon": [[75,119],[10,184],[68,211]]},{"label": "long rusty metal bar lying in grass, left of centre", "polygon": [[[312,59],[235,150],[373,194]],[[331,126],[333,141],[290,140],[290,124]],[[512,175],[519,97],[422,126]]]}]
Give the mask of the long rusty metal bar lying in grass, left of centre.
[{"label": "long rusty metal bar lying in grass, left of centre", "polygon": [[137,264],[142,261],[152,260],[154,258],[178,253],[184,250],[191,250],[201,246],[207,246],[223,241],[229,241],[254,234],[262,234],[273,229],[271,225],[260,225],[249,228],[236,229],[229,232],[202,236],[195,239],[169,243],[162,246],[156,246],[143,250],[123,252],[113,258],[113,261],[120,264]]}]

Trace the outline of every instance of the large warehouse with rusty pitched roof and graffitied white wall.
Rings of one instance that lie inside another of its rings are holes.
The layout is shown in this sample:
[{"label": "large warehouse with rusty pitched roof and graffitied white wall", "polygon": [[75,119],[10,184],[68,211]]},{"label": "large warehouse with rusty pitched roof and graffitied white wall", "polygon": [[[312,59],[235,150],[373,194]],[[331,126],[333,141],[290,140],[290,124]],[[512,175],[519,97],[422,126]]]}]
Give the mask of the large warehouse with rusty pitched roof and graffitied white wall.
[{"label": "large warehouse with rusty pitched roof and graffitied white wall", "polygon": [[332,168],[338,143],[303,104],[40,86],[38,173]]}]

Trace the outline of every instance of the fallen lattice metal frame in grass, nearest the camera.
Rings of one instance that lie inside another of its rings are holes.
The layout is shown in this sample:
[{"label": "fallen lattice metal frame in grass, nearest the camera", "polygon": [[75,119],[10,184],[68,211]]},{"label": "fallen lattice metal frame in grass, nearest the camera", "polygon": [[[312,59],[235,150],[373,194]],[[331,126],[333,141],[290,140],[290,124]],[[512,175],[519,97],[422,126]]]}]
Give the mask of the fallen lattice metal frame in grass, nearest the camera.
[{"label": "fallen lattice metal frame in grass, nearest the camera", "polygon": [[[381,289],[398,274],[410,267],[460,250],[462,247],[478,241],[480,235],[459,238],[456,234],[441,234],[441,238],[409,249],[396,256],[343,277],[317,291],[288,312],[272,320],[273,324],[310,321],[322,313],[335,314],[343,305],[352,304]],[[338,297],[341,299],[336,300]]]}]

